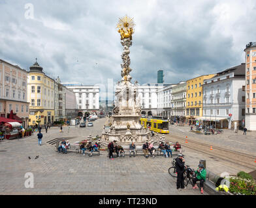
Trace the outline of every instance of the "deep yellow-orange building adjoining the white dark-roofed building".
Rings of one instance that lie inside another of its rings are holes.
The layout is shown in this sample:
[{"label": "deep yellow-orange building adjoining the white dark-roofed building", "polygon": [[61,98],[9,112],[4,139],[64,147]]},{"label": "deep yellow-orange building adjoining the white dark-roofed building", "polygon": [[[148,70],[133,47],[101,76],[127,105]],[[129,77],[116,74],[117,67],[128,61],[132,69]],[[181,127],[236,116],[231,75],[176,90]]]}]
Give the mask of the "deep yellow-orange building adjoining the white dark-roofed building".
[{"label": "deep yellow-orange building adjoining the white dark-roofed building", "polygon": [[189,120],[191,123],[195,123],[196,119],[202,116],[202,85],[204,79],[210,79],[214,75],[201,75],[187,81],[186,123]]}]

